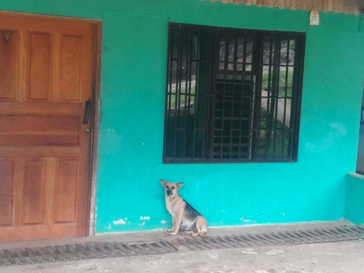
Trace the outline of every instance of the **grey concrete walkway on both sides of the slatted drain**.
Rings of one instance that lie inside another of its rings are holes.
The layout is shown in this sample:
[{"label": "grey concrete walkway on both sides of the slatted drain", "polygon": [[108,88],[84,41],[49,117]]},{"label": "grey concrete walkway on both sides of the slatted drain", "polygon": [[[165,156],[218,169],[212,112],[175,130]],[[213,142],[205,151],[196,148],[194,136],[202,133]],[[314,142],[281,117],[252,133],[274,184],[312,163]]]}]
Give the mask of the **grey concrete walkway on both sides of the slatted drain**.
[{"label": "grey concrete walkway on both sides of the slatted drain", "polygon": [[[213,228],[210,235],[269,233],[348,225],[346,222]],[[165,239],[166,232],[103,235],[88,238],[0,243],[0,248],[35,247],[77,242],[148,241]],[[0,267],[0,273],[363,273],[364,241],[278,247],[181,251],[172,254],[88,259]]]}]

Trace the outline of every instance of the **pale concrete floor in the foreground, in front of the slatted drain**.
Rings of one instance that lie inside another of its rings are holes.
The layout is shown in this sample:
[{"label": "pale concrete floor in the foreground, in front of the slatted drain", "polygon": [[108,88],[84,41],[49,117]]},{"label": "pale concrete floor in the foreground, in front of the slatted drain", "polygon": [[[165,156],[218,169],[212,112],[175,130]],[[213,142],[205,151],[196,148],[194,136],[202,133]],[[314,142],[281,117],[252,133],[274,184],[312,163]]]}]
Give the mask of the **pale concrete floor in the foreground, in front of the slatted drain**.
[{"label": "pale concrete floor in the foreground, in front of the slatted drain", "polygon": [[362,273],[364,241],[0,267],[0,273]]}]

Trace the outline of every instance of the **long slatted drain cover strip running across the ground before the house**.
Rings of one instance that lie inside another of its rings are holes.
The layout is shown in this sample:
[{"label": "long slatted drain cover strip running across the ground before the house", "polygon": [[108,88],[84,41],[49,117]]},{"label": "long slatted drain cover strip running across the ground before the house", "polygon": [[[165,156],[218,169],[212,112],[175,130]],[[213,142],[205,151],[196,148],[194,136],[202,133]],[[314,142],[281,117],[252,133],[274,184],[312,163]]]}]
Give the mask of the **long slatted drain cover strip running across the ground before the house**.
[{"label": "long slatted drain cover strip running across the ground before the house", "polygon": [[0,266],[176,251],[325,243],[364,239],[364,227],[339,226],[286,232],[178,238],[151,243],[84,243],[0,250]]}]

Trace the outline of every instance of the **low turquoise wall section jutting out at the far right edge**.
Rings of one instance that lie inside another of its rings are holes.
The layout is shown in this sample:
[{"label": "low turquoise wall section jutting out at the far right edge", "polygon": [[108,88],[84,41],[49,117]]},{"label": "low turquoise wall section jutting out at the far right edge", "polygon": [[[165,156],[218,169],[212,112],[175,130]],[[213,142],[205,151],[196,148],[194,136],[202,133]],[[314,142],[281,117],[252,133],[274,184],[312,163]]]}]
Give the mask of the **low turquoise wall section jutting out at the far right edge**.
[{"label": "low turquoise wall section jutting out at the far right edge", "polygon": [[364,176],[348,174],[344,218],[355,224],[364,224]]}]

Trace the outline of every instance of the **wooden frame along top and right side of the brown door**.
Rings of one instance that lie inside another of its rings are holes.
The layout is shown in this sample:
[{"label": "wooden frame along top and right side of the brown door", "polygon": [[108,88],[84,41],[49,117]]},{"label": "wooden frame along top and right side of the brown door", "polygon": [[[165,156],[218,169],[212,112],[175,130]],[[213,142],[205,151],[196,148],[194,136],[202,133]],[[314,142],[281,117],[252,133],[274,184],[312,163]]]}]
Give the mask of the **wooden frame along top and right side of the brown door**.
[{"label": "wooden frame along top and right side of the brown door", "polygon": [[102,52],[102,20],[101,19],[85,19],[79,17],[66,17],[58,15],[45,15],[38,13],[25,13],[0,10],[1,16],[14,16],[22,18],[46,18],[63,22],[82,22],[94,25],[95,28],[95,70],[93,77],[93,113],[92,113],[92,140],[89,158],[89,193],[88,193],[88,214],[87,214],[87,230],[86,236],[95,235],[95,213],[96,213],[96,184],[97,184],[97,163],[99,151],[99,131],[100,131],[100,96],[101,96],[101,52]]}]

